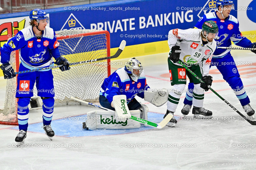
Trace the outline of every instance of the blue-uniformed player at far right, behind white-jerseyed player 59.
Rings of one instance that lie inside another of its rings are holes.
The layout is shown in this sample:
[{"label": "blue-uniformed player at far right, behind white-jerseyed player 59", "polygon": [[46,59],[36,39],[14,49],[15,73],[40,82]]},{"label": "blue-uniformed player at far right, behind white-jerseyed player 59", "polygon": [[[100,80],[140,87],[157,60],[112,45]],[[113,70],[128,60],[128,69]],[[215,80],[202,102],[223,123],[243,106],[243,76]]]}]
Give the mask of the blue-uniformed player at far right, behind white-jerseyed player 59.
[{"label": "blue-uniformed player at far right, behind white-jerseyed player 59", "polygon": [[[239,31],[238,20],[230,15],[231,10],[234,10],[233,1],[230,0],[217,0],[218,10],[216,12],[210,12],[205,14],[196,23],[195,28],[201,29],[202,24],[205,21],[213,20],[217,23],[219,29],[218,38],[216,39],[217,47],[230,47],[231,41],[235,45],[245,48],[256,48],[256,43],[252,43],[249,39],[242,36]],[[256,53],[256,51],[252,51]],[[232,63],[232,64],[225,64]],[[233,57],[230,54],[229,49],[216,49],[212,57],[211,66],[216,66],[222,74],[224,80],[228,82],[236,97],[240,101],[244,111],[248,116],[254,115],[254,109],[250,106],[250,100],[244,90],[244,85],[238,73],[238,69],[234,62]],[[182,114],[187,115],[192,106],[192,93],[194,84],[188,85],[188,91],[184,100],[184,107]]]}]

